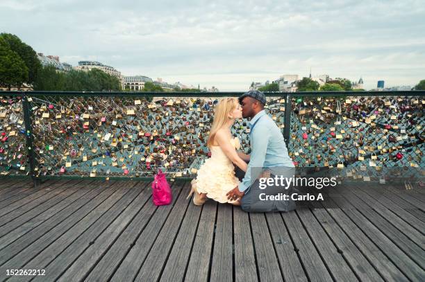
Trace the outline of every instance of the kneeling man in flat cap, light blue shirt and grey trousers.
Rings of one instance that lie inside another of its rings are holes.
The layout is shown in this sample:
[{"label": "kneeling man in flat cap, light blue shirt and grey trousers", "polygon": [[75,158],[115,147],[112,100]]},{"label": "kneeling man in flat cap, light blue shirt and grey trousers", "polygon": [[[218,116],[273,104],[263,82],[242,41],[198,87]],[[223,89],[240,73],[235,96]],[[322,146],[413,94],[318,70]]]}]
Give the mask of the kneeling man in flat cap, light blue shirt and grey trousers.
[{"label": "kneeling man in flat cap, light blue shirt and grey trousers", "polygon": [[[241,207],[244,211],[293,210],[295,205],[291,200],[260,201],[260,197],[264,197],[264,195],[260,196],[261,193],[277,195],[278,192],[282,191],[281,188],[275,189],[276,187],[272,186],[267,187],[268,190],[263,190],[259,187],[257,176],[260,175],[263,168],[283,168],[285,172],[281,173],[281,175],[290,175],[289,177],[292,177],[294,173],[294,164],[288,155],[282,132],[264,110],[266,104],[265,95],[261,91],[247,91],[240,96],[239,103],[242,105],[242,116],[244,118],[251,118],[251,121],[249,121],[251,155],[238,152],[238,155],[244,161],[249,162],[249,164],[240,185],[226,194],[228,199],[240,199]],[[238,176],[238,172],[236,176]],[[261,176],[264,177],[264,175]]]}]

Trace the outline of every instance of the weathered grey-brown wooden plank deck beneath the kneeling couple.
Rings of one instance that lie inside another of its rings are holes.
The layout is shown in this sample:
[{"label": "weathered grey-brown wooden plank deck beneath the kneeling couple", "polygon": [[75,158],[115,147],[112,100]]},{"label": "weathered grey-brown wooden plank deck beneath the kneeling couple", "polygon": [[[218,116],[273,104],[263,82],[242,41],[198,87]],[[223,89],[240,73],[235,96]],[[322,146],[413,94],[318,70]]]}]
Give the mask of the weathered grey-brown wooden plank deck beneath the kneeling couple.
[{"label": "weathered grey-brown wooden plank deck beneath the kneeling couple", "polygon": [[249,214],[188,182],[157,207],[147,182],[0,179],[0,281],[425,281],[424,189],[350,185],[344,209]]}]

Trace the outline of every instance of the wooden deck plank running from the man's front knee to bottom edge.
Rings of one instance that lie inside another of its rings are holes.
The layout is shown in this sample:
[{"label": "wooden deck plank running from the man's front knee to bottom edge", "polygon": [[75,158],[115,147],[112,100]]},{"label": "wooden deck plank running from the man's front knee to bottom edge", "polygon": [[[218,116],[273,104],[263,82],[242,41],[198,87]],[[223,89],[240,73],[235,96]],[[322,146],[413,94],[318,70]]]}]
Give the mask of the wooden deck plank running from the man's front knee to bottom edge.
[{"label": "wooden deck plank running from the man's front knee to bottom edge", "polygon": [[233,236],[235,240],[235,282],[258,281],[249,215],[238,207],[233,209]]}]

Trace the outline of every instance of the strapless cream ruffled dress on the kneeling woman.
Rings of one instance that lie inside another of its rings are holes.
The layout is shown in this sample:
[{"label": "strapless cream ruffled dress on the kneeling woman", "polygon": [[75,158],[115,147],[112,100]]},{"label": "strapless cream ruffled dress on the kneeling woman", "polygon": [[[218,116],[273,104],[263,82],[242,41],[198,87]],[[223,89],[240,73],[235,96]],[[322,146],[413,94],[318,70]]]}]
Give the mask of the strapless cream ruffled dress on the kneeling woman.
[{"label": "strapless cream ruffled dress on the kneeling woman", "polygon": [[[231,139],[236,150],[240,149],[238,137]],[[227,199],[226,193],[240,184],[235,177],[235,167],[219,146],[210,148],[211,157],[199,168],[196,179],[192,180],[199,193],[206,193],[207,197],[220,203],[235,202]]]}]

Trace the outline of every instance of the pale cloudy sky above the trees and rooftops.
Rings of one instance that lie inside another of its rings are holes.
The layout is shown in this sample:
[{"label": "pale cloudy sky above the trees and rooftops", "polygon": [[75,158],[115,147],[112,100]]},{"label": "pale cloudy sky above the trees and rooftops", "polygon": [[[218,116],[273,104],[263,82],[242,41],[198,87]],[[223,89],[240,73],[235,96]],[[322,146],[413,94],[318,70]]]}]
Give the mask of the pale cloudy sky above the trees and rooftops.
[{"label": "pale cloudy sky above the trees and rooftops", "polygon": [[285,74],[425,79],[423,0],[1,0],[0,32],[73,66],[245,91]]}]

